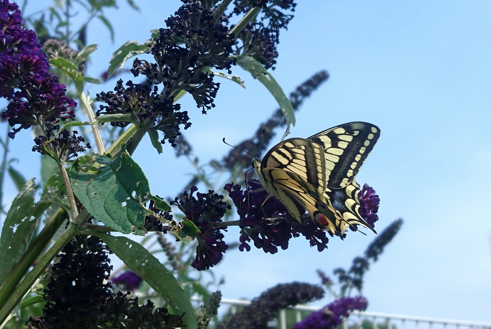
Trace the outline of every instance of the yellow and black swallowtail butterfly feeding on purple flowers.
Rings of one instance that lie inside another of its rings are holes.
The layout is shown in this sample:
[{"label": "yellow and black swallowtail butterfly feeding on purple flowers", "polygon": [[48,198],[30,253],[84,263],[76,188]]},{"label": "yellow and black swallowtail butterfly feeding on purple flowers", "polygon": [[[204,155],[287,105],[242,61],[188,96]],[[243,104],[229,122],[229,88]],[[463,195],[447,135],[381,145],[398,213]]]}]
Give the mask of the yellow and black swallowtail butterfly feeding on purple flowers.
[{"label": "yellow and black swallowtail butterfly feeding on purple flowers", "polygon": [[276,196],[299,222],[305,209],[333,235],[354,225],[377,233],[358,213],[355,177],[379,136],[375,125],[350,122],[276,144],[263,160],[252,161],[270,194],[265,202]]}]

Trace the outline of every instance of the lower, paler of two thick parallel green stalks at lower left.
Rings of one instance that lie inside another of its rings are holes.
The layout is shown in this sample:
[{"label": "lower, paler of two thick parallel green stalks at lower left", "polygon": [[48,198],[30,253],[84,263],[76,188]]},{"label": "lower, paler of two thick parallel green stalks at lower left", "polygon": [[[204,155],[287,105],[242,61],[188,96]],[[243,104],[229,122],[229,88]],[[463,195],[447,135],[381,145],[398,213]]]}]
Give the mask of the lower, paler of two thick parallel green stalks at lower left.
[{"label": "lower, paler of two thick parallel green stalks at lower left", "polygon": [[17,304],[19,304],[27,291],[29,291],[32,284],[34,284],[37,278],[39,278],[39,276],[46,270],[51,261],[55,259],[56,255],[63,249],[63,247],[78,234],[77,226],[78,225],[73,222],[70,223],[68,228],[63,232],[63,234],[61,234],[60,238],[55,242],[55,244],[41,257],[32,271],[27,274],[27,277],[8,297],[5,304],[3,304],[0,308],[0,323],[5,321],[10,312],[12,312]]}]

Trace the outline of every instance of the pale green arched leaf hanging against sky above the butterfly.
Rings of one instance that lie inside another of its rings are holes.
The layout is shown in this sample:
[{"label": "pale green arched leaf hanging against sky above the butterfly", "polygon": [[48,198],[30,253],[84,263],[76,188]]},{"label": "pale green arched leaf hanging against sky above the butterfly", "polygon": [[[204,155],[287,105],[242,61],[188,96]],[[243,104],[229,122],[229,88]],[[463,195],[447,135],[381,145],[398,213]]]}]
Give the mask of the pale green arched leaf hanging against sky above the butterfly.
[{"label": "pale green arched leaf hanging against sky above the butterfly", "polygon": [[266,89],[268,89],[281,108],[287,125],[290,126],[290,124],[292,124],[295,126],[295,113],[293,112],[292,104],[271,73],[269,73],[257,60],[245,55],[237,57],[237,65],[249,72],[253,77],[258,79]]}]

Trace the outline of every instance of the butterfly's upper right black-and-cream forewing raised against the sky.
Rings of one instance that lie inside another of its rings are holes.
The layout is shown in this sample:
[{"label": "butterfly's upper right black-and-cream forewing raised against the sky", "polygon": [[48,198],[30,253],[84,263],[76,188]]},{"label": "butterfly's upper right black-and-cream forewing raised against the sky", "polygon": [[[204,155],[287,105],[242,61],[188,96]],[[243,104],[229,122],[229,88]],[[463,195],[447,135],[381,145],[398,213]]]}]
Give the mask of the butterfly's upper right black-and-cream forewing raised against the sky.
[{"label": "butterfly's upper right black-and-cream forewing raised against the sky", "polygon": [[345,188],[354,181],[379,136],[380,129],[375,125],[350,122],[308,137],[324,148],[327,187]]}]

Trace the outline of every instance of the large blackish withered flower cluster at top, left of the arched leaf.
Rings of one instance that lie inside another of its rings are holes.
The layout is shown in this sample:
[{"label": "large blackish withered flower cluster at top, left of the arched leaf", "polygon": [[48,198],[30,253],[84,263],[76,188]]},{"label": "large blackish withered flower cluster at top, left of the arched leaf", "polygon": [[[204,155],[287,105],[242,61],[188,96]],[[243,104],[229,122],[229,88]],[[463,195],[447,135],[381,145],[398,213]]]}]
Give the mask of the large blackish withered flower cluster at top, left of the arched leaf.
[{"label": "large blackish withered flower cluster at top, left of the arched leaf", "polygon": [[236,59],[230,57],[235,44],[227,26],[214,24],[208,1],[185,2],[174,16],[165,20],[167,28],[159,30],[155,44],[147,51],[156,63],[136,59],[131,72],[147,76],[155,84],[163,84],[161,95],[186,90],[203,113],[215,107],[219,83],[205,67],[228,70]]}]

